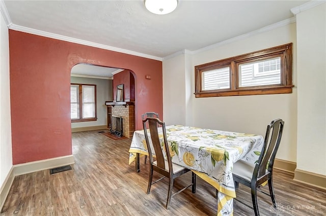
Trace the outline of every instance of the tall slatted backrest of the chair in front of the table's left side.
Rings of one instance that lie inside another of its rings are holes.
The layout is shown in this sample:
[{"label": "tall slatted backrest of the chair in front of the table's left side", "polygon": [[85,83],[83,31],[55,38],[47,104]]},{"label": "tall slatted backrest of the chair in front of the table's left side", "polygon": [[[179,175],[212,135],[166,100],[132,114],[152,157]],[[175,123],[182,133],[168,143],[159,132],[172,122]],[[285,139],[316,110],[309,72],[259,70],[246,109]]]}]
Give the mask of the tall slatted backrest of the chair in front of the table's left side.
[{"label": "tall slatted backrest of the chair in front of the table's left side", "polygon": [[[147,131],[147,123],[148,123],[148,127],[149,127],[148,131]],[[162,143],[160,142],[159,136],[158,136],[158,129],[157,129],[158,126],[162,127],[162,133],[163,133],[163,142]],[[161,168],[162,170],[168,169],[170,174],[172,174],[173,173],[172,160],[171,160],[171,155],[170,155],[169,146],[168,146],[165,123],[160,121],[158,118],[148,117],[143,120],[143,127],[144,127],[144,132],[145,132],[145,139],[146,139],[150,163],[151,164],[153,163],[153,153],[150,148],[149,137],[152,141],[153,148],[155,151],[155,156],[156,156],[156,161],[157,161],[156,166]],[[149,136],[148,136],[148,132],[149,132]],[[164,148],[166,155],[167,155],[167,160],[168,160],[168,164],[169,164],[168,168],[165,166],[165,158],[164,158],[164,154],[162,152],[162,148]]]}]

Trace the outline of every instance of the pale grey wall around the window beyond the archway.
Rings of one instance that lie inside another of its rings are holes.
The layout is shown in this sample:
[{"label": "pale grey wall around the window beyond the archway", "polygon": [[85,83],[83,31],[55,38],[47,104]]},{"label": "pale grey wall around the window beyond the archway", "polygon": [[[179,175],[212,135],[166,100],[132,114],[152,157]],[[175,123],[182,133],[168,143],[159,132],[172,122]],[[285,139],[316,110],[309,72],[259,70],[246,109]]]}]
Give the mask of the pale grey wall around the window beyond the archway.
[{"label": "pale grey wall around the window beyond the archway", "polygon": [[105,101],[112,100],[113,89],[112,79],[95,79],[85,77],[71,76],[71,83],[76,84],[93,84],[96,85],[96,100],[97,100],[97,121],[89,122],[74,122],[71,123],[71,128],[101,126],[106,125],[106,105]]}]

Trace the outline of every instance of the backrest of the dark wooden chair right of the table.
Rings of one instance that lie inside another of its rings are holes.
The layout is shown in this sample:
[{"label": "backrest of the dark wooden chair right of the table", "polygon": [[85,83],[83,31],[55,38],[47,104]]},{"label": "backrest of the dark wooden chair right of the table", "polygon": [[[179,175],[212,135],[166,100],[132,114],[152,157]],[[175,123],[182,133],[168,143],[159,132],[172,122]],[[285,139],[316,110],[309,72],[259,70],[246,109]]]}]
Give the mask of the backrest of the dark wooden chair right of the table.
[{"label": "backrest of the dark wooden chair right of the table", "polygon": [[264,145],[256,164],[253,178],[257,179],[265,175],[266,169],[269,172],[273,170],[275,156],[282,138],[283,126],[284,121],[282,119],[273,120],[267,125]]}]

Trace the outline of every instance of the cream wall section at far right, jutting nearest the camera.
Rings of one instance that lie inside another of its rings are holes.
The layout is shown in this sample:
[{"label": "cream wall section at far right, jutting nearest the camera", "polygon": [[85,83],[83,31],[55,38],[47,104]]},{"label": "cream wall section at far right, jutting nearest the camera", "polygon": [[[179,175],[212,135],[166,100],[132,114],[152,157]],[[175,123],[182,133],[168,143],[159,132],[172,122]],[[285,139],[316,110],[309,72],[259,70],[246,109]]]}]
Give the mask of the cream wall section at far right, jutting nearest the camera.
[{"label": "cream wall section at far right, jutting nearest the camera", "polygon": [[297,169],[326,175],[326,4],[296,14]]}]

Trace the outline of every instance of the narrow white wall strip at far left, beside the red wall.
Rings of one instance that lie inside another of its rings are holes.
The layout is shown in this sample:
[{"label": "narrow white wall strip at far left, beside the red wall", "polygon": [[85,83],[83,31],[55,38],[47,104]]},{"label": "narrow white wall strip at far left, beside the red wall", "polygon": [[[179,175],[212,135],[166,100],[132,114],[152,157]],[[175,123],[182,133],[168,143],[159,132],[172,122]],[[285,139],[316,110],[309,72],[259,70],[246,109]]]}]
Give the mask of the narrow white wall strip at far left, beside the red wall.
[{"label": "narrow white wall strip at far left, beside the red wall", "polygon": [[0,15],[0,188],[12,167],[9,35],[5,19]]}]

